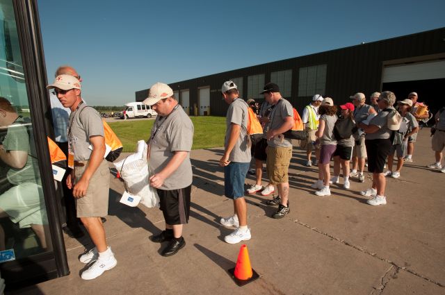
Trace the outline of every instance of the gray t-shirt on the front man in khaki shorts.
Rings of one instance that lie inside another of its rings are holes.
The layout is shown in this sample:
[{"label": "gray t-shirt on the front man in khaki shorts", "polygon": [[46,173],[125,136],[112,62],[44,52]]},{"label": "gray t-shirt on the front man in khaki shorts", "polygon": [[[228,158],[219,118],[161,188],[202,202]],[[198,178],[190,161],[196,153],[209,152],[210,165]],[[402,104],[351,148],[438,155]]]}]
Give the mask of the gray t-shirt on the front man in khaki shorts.
[{"label": "gray t-shirt on the front man in khaki shorts", "polygon": [[90,160],[92,150],[90,137],[104,135],[104,124],[99,112],[86,103],[81,103],[77,110],[70,114],[70,125],[68,126],[68,142],[74,153],[74,160]]}]

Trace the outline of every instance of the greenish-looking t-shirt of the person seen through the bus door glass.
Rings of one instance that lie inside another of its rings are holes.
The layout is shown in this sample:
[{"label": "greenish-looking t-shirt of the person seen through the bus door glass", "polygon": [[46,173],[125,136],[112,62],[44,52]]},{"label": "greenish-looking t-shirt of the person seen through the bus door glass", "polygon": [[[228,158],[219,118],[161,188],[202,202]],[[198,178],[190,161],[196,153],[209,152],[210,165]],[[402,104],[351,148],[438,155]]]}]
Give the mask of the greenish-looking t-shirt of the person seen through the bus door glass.
[{"label": "greenish-looking t-shirt of the person seen through the bus door glass", "polygon": [[9,167],[6,177],[8,181],[13,185],[19,185],[21,183],[37,183],[40,184],[40,174],[38,161],[35,151],[31,150],[30,144],[35,144],[33,141],[32,130],[26,130],[26,127],[16,121],[8,127],[8,131],[3,140],[3,148],[6,151],[24,151],[28,153],[26,158],[26,164],[21,169]]}]

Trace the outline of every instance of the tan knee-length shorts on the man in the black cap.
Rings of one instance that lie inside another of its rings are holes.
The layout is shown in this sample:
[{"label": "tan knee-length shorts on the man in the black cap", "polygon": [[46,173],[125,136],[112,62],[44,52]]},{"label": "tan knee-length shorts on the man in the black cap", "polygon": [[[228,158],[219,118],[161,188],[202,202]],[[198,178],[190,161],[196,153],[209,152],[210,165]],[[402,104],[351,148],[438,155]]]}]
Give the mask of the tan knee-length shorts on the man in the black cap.
[{"label": "tan knee-length shorts on the man in the black cap", "polygon": [[271,185],[289,183],[289,164],[292,158],[292,147],[270,147],[266,148],[267,176]]}]

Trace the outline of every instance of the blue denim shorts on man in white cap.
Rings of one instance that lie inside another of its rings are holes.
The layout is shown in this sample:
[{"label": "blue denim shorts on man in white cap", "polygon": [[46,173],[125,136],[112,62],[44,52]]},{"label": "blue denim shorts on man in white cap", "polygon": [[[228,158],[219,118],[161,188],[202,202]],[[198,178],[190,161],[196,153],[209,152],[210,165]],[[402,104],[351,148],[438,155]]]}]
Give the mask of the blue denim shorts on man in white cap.
[{"label": "blue denim shorts on man in white cap", "polygon": [[244,196],[245,174],[248,173],[250,162],[230,162],[224,167],[224,194],[236,200]]}]

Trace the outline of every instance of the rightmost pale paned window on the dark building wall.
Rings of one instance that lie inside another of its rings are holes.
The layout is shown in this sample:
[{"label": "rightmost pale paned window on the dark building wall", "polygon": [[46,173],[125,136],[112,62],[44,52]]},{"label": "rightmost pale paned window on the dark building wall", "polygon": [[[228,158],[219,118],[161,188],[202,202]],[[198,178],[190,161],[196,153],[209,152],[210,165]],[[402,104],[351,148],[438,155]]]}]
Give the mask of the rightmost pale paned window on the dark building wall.
[{"label": "rightmost pale paned window on the dark building wall", "polygon": [[300,67],[298,96],[325,94],[327,65]]}]

